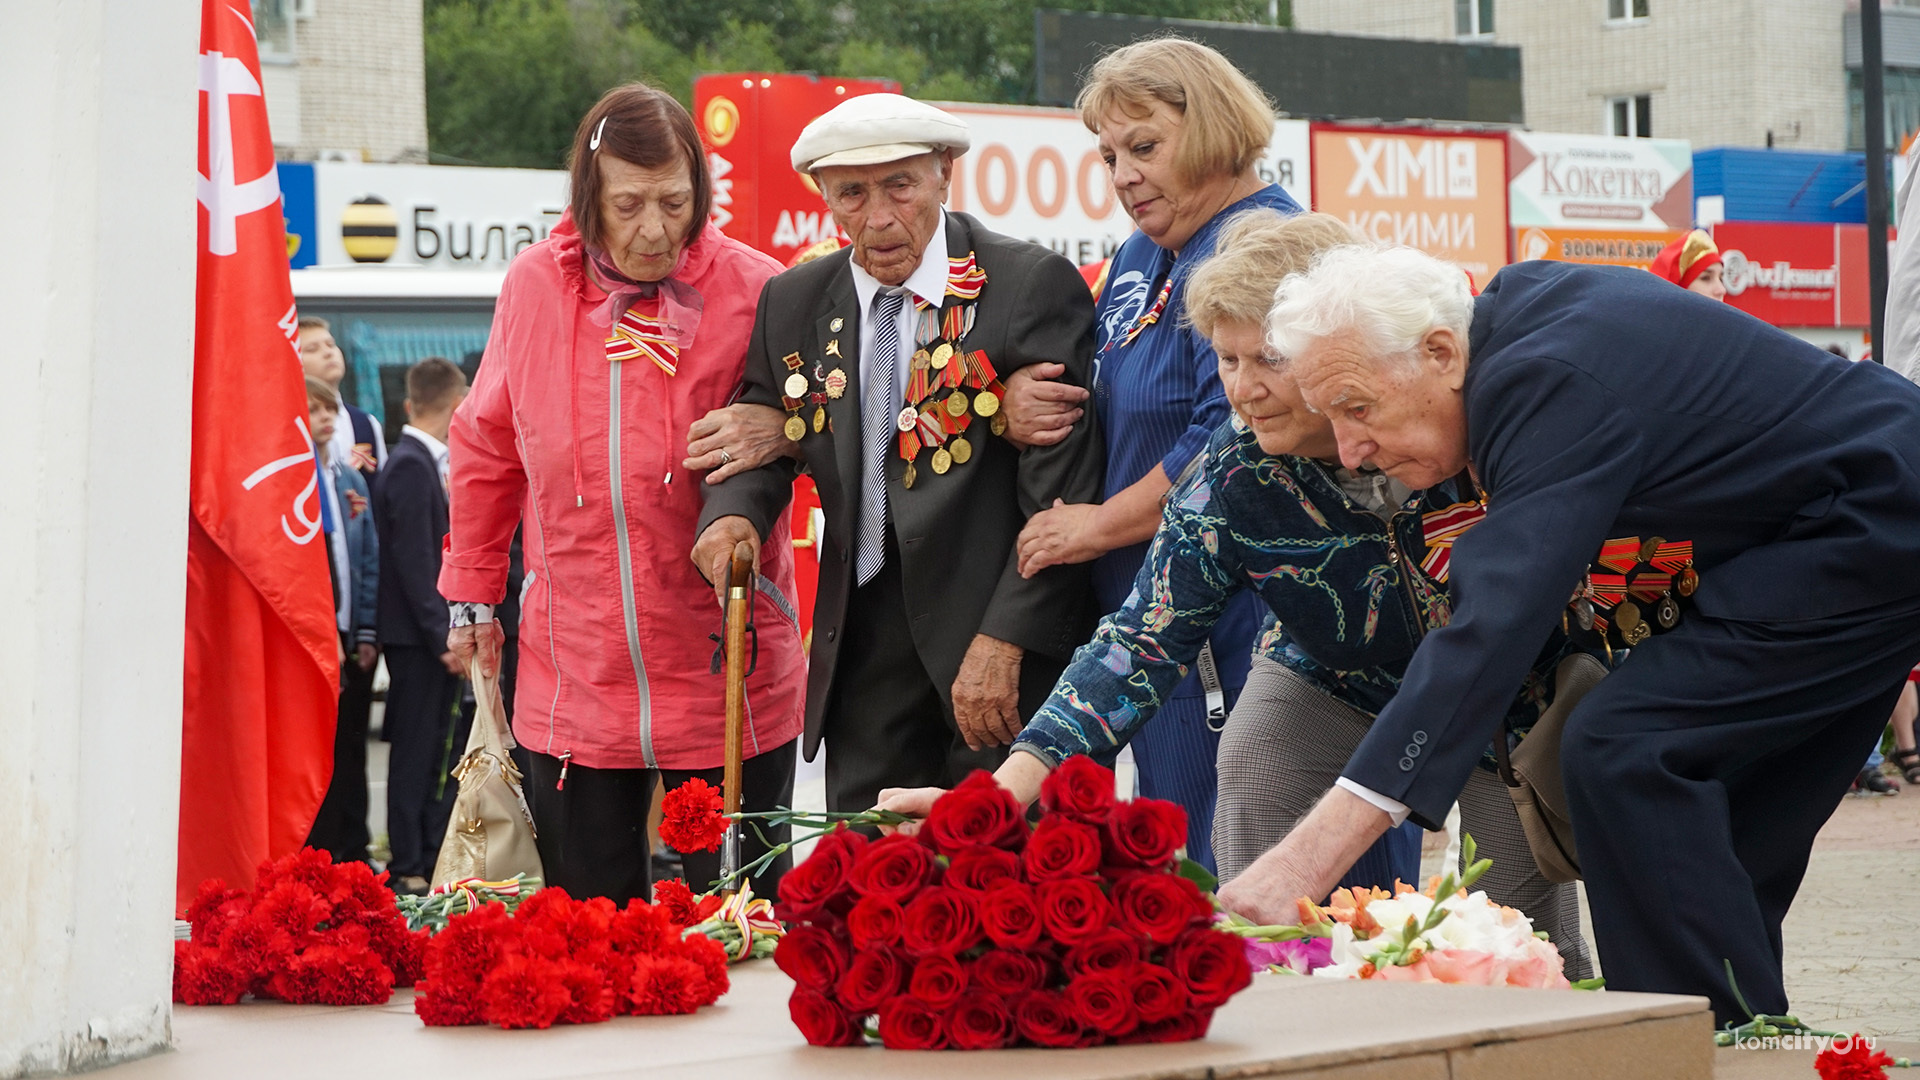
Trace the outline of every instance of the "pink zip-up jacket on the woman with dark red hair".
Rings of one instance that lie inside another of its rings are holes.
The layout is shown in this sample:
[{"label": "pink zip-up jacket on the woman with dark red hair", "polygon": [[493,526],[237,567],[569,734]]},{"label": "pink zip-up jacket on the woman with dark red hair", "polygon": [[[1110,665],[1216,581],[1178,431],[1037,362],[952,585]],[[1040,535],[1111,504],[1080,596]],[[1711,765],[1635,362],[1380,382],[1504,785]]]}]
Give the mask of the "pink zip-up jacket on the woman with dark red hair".
[{"label": "pink zip-up jacket on the woman with dark red hair", "polygon": [[[724,763],[726,676],[710,669],[708,638],[722,619],[689,557],[705,477],[680,461],[687,425],[733,398],[760,286],[780,263],[703,229],[676,273],[703,313],[668,375],[643,356],[607,359],[607,329],[589,321],[607,294],[584,256],[563,217],[507,269],[447,438],[440,594],[499,603],[524,521],[520,746],[591,769],[710,769]],[[806,707],[785,517],[760,557],[747,757],[797,738]]]}]

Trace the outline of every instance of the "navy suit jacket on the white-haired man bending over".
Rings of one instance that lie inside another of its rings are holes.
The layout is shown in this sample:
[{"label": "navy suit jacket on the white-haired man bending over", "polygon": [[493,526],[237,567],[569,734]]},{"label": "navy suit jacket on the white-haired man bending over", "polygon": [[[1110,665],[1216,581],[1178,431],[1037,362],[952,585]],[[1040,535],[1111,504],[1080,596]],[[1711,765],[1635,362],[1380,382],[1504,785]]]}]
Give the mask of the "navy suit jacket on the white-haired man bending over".
[{"label": "navy suit jacket on the white-haired man bending over", "polygon": [[1500,271],[1469,352],[1486,519],[1453,550],[1453,621],[1346,767],[1423,826],[1440,826],[1603,540],[1692,540],[1692,603],[1713,619],[1920,596],[1920,386],[1645,271],[1571,263]]}]

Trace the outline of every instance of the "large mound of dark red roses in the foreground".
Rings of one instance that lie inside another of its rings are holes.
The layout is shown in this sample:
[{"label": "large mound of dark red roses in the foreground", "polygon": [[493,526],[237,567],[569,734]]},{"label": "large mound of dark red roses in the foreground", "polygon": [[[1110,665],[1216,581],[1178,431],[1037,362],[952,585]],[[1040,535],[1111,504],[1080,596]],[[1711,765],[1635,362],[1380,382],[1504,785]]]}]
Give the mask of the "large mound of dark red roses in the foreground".
[{"label": "large mound of dark red roses in the foreground", "polygon": [[[839,828],[780,886],[793,922],[774,963],[814,1045],[1079,1047],[1187,1042],[1252,982],[1238,936],[1175,872],[1187,815],[1116,801],[1071,757],[1029,826],[987,773],[933,803],[916,836]],[[876,1022],[877,1017],[877,1022]]]}]

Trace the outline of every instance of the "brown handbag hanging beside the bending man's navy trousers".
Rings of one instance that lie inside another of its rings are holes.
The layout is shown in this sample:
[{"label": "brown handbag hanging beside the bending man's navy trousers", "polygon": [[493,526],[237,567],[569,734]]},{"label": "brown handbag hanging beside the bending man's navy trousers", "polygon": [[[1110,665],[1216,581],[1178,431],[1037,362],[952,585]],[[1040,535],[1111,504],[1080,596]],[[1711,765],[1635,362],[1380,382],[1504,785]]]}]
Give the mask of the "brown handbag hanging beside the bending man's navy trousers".
[{"label": "brown handbag hanging beside the bending man's navy trousers", "polygon": [[1548,705],[1532,730],[1507,753],[1507,726],[1500,726],[1494,757],[1500,778],[1513,796],[1521,817],[1526,847],[1534,853],[1540,876],[1549,882],[1580,880],[1580,853],[1572,844],[1572,819],[1567,815],[1567,782],[1561,776],[1559,746],[1567,717],[1599,686],[1607,665],[1588,653],[1572,653],[1553,669],[1553,703]]}]

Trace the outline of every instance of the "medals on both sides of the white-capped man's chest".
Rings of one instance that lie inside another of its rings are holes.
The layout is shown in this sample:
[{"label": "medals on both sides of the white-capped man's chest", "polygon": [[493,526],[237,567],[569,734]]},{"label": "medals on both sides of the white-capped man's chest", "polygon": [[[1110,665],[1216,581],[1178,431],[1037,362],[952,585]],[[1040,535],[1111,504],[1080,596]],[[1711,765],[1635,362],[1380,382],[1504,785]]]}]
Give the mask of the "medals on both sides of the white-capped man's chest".
[{"label": "medals on both sides of the white-capped man's chest", "polygon": [[[829,331],[839,332],[841,325],[839,319],[833,319]],[[1000,388],[987,354],[962,354],[945,340],[927,342],[927,346],[914,350],[904,390],[906,404],[895,417],[897,446],[900,457],[906,459],[900,484],[906,488],[912,488],[920,477],[914,457],[924,448],[924,436],[927,442],[935,438],[947,442],[950,436],[950,446],[935,444],[929,461],[935,475],[947,475],[954,465],[966,465],[973,459],[973,444],[966,438],[973,415],[985,419],[993,434],[1006,434],[1006,413],[1000,411],[1004,388]],[[826,352],[839,357],[839,338],[829,340]],[[833,421],[828,417],[826,404],[847,394],[847,371],[839,367],[826,371],[826,365],[820,363],[814,365],[810,382],[801,371],[806,365],[801,354],[787,354],[783,363],[789,371],[785,384],[781,384],[789,413],[783,429],[787,440],[806,438],[808,421],[801,415],[806,405],[814,405],[810,425],[814,434],[828,430]],[[941,386],[948,388],[947,396],[929,402],[933,390]]]}]

